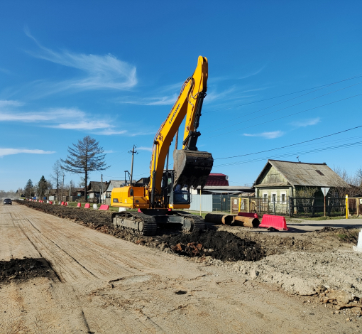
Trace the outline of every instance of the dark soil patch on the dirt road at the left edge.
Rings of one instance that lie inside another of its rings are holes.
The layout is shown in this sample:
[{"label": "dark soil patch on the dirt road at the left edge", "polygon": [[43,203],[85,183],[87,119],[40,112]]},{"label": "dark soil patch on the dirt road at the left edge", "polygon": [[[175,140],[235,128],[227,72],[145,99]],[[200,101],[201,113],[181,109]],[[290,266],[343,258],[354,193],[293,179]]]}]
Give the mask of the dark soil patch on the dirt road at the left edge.
[{"label": "dark soil patch on the dirt road at the left edge", "polygon": [[0,261],[0,284],[10,283],[13,280],[27,281],[35,277],[49,277],[57,280],[53,269],[43,258]]}]

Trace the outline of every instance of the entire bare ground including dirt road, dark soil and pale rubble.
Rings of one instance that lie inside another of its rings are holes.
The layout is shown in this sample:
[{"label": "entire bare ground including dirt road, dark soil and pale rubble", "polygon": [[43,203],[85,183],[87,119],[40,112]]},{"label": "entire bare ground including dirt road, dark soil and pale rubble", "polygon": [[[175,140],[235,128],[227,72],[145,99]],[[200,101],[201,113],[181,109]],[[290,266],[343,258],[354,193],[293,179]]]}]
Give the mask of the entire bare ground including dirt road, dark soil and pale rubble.
[{"label": "entire bare ground including dirt road, dark soil and pale rubble", "polygon": [[141,237],[35,204],[0,206],[0,333],[361,333],[362,220]]}]

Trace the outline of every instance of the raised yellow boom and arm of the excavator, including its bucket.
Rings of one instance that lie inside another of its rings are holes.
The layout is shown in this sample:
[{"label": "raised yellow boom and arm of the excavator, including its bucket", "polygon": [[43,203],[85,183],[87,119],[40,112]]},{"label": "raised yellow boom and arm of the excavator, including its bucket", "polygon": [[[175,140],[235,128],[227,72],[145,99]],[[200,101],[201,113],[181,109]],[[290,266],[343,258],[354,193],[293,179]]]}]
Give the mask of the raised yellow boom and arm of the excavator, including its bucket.
[{"label": "raised yellow boom and arm of the excavator, including its bucket", "polygon": [[192,77],[182,85],[179,97],[173,105],[165,122],[161,124],[153,140],[153,153],[150,162],[150,204],[154,208],[155,197],[161,195],[163,168],[170,144],[186,116],[182,150],[173,153],[175,165],[174,185],[195,188],[204,186],[212,170],[211,153],[197,151],[196,143],[200,133],[197,132],[202,102],[207,92],[208,65],[207,58],[199,56],[197,68]]}]

